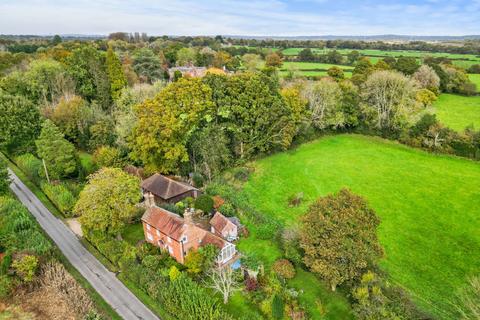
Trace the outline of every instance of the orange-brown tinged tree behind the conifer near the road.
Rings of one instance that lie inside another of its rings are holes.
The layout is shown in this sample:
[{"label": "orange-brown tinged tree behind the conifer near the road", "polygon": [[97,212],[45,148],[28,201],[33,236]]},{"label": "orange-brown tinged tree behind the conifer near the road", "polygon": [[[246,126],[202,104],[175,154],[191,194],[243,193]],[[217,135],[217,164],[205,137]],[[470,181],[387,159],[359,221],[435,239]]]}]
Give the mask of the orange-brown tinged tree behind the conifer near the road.
[{"label": "orange-brown tinged tree behind the conifer near the road", "polygon": [[60,98],[58,103],[46,106],[42,112],[69,141],[81,148],[87,147],[94,114],[85,100],[76,95],[67,95]]}]

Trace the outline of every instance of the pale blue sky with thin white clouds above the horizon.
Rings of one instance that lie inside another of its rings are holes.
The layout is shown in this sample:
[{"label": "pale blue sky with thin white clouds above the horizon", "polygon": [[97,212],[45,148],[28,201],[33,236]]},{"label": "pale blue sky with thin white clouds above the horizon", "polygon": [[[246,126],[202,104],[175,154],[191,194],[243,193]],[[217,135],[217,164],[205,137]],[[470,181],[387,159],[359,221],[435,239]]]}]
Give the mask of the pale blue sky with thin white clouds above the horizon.
[{"label": "pale blue sky with thin white clouds above the horizon", "polygon": [[0,34],[472,35],[480,0],[0,0]]}]

